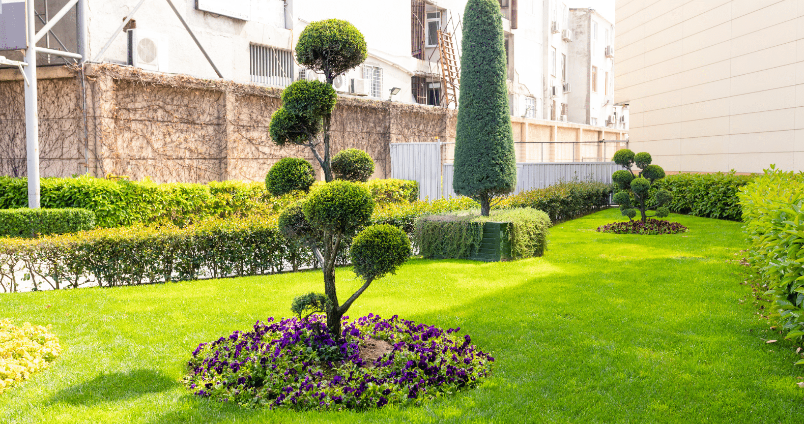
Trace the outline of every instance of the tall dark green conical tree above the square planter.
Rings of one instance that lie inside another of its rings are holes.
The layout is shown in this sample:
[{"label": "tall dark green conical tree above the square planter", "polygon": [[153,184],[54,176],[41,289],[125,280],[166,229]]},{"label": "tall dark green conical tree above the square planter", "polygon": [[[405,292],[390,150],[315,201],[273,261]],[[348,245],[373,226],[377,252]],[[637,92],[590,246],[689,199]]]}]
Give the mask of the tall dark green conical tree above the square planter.
[{"label": "tall dark green conical tree above the square planter", "polygon": [[489,216],[516,187],[516,155],[506,83],[503,15],[496,0],[469,0],[463,18],[461,94],[453,190]]}]

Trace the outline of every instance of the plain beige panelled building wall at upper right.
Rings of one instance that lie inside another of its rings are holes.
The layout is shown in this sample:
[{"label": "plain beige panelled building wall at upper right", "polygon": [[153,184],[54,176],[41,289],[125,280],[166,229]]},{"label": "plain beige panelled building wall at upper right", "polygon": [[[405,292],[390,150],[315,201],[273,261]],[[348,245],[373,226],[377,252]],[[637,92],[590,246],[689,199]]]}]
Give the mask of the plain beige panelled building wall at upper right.
[{"label": "plain beige panelled building wall at upper right", "polygon": [[670,172],[804,170],[804,1],[616,4],[631,149]]}]

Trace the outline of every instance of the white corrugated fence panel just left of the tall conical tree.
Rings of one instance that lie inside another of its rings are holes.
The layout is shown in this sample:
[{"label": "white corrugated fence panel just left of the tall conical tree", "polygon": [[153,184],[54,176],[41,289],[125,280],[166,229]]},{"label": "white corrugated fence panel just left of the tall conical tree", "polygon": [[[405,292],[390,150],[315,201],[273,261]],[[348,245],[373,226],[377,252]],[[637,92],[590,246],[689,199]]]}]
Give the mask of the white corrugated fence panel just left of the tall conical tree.
[{"label": "white corrugated fence panel just left of the tall conical tree", "polygon": [[441,198],[441,143],[391,143],[391,177],[418,181],[420,200]]}]

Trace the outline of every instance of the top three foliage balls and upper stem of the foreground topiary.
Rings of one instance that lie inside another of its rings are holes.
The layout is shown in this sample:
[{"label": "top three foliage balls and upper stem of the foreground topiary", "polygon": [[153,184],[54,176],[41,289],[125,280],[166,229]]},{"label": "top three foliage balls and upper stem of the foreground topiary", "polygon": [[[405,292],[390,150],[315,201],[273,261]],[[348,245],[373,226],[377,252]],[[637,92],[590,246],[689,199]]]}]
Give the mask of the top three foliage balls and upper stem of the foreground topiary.
[{"label": "top three foliage balls and upper stem of the foreground topiary", "polygon": [[[318,71],[326,83],[299,80],[282,92],[282,107],[271,116],[269,131],[277,145],[291,143],[309,147],[324,171],[324,180],[333,181],[330,169],[330,124],[337,94],[332,82],[366,60],[363,34],[340,19],[310,22],[296,44],[296,60]],[[323,141],[318,140],[322,134]],[[319,151],[320,149],[320,151]]]}]

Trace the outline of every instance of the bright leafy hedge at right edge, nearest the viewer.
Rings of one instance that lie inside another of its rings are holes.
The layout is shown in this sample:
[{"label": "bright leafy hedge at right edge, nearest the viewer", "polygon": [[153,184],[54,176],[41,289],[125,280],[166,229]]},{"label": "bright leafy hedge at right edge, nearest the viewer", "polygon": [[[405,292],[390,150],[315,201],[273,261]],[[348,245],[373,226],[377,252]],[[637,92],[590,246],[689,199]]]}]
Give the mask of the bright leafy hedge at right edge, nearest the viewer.
[{"label": "bright leafy hedge at right edge, nearest the viewer", "polygon": [[[766,169],[738,195],[751,267],[767,284],[781,328],[804,336],[804,173]],[[800,363],[804,360],[800,361]]]}]

